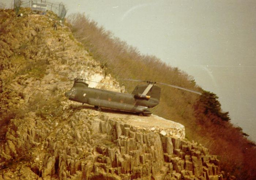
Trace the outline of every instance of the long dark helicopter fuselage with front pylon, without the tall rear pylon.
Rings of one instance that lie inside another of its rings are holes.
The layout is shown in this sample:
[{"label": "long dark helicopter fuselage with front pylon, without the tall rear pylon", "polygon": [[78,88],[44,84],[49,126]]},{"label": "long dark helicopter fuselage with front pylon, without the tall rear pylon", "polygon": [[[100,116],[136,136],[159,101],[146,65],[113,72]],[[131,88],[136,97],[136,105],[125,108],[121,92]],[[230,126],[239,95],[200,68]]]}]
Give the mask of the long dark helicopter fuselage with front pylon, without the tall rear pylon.
[{"label": "long dark helicopter fuselage with front pylon, without the tall rear pylon", "polygon": [[142,96],[139,92],[128,94],[89,88],[87,83],[80,80],[75,80],[73,87],[65,93],[65,96],[69,100],[90,104],[95,107],[106,107],[142,114],[151,114],[148,108],[159,104],[157,98]]}]

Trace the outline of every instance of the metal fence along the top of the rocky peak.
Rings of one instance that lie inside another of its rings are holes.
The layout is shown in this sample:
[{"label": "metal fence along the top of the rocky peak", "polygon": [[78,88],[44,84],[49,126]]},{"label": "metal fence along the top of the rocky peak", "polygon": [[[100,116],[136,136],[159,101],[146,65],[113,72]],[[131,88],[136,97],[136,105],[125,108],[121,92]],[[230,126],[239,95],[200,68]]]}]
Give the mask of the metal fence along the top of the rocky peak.
[{"label": "metal fence along the top of the rocky peak", "polygon": [[14,0],[14,9],[16,14],[19,12],[20,7],[26,7],[31,8],[33,4],[46,4],[46,9],[49,11],[53,11],[55,14],[58,15],[60,19],[64,19],[67,14],[67,9],[65,8],[65,5],[63,3],[55,4],[50,3],[46,0],[29,0],[29,1],[20,1],[20,0]]}]

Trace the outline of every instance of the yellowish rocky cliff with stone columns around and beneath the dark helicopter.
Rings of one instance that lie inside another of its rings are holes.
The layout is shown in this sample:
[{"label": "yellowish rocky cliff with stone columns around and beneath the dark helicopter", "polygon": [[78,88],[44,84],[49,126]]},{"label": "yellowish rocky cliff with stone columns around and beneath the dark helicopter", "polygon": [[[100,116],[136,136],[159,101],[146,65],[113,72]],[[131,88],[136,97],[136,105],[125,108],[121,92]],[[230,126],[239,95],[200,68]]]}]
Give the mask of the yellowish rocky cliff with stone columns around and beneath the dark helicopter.
[{"label": "yellowish rocky cliff with stone columns around and beneath the dark helicopter", "polygon": [[[185,140],[184,126],[151,115],[70,102],[84,77],[123,92],[51,13],[1,10],[0,180],[219,180],[217,157]],[[106,76],[105,76],[106,75]]]}]

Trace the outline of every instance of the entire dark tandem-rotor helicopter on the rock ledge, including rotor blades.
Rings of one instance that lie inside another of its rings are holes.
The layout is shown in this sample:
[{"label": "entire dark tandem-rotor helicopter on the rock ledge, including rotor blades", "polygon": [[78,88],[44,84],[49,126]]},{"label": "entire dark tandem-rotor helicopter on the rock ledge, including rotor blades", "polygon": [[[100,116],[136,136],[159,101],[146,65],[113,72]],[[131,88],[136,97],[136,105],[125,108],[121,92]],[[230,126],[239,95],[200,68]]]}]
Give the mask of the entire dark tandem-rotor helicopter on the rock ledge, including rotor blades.
[{"label": "entire dark tandem-rotor helicopter on the rock ledge, including rotor blades", "polygon": [[134,112],[139,115],[150,115],[151,112],[148,110],[148,108],[157,106],[160,100],[161,88],[155,84],[167,85],[185,91],[201,94],[197,91],[192,91],[165,83],[132,79],[124,80],[146,82],[147,84],[137,85],[133,92],[128,94],[97,88],[89,88],[88,84],[85,82],[89,80],[75,78],[73,87],[70,91],[65,93],[65,96],[68,97],[69,100],[93,105],[98,109],[98,111],[101,111],[101,107],[105,107],[120,111]]}]

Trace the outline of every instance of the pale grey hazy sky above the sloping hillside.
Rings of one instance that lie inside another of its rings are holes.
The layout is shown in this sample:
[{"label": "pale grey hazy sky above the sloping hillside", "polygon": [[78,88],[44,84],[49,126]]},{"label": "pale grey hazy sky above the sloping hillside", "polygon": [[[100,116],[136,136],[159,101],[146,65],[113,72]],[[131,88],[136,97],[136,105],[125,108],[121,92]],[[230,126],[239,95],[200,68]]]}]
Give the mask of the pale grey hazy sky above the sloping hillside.
[{"label": "pale grey hazy sky above the sloping hillside", "polygon": [[193,76],[256,141],[255,0],[62,2],[68,14],[84,12],[143,54]]}]

